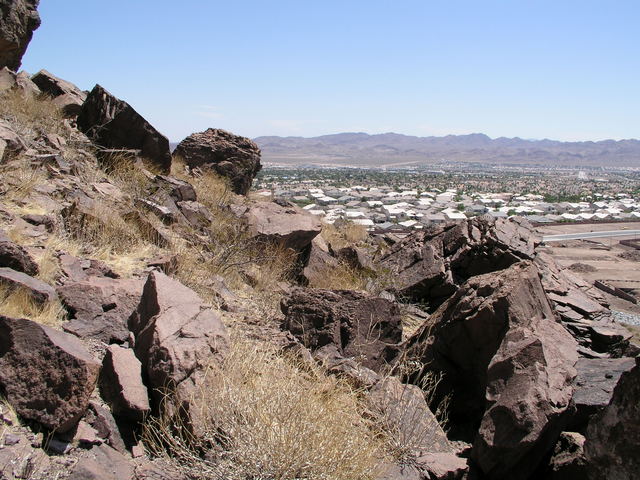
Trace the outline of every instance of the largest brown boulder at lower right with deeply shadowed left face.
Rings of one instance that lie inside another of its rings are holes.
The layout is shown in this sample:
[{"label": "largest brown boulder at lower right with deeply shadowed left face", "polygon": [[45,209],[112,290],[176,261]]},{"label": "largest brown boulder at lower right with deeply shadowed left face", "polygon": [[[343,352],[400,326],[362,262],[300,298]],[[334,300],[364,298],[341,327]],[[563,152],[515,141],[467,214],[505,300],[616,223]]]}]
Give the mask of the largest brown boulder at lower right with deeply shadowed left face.
[{"label": "largest brown boulder at lower right with deeply shadowed left face", "polygon": [[537,268],[520,262],[468,280],[407,342],[407,358],[443,375],[452,430],[475,441],[488,478],[526,478],[570,407],[577,343],[556,322]]}]

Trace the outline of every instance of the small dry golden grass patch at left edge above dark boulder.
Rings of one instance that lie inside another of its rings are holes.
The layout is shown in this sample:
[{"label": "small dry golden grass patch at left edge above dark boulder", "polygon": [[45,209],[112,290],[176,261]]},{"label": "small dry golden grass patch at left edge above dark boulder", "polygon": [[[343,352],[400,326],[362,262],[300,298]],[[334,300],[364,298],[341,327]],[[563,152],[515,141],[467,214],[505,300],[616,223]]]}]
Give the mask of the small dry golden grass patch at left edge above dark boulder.
[{"label": "small dry golden grass patch at left edge above dark boulder", "polygon": [[66,317],[59,301],[39,305],[24,289],[8,288],[0,284],[0,314],[13,318],[28,318],[34,322],[58,327]]}]

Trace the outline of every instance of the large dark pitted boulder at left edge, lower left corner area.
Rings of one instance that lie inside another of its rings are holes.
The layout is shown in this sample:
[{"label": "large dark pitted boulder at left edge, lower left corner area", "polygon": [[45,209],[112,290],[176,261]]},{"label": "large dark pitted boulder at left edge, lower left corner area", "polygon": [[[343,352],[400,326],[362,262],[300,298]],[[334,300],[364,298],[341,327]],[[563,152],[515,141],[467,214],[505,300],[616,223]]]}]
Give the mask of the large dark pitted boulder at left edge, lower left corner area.
[{"label": "large dark pitted boulder at left edge, lower left corner area", "polygon": [[87,410],[99,371],[72,335],[0,316],[0,385],[24,418],[69,430]]}]

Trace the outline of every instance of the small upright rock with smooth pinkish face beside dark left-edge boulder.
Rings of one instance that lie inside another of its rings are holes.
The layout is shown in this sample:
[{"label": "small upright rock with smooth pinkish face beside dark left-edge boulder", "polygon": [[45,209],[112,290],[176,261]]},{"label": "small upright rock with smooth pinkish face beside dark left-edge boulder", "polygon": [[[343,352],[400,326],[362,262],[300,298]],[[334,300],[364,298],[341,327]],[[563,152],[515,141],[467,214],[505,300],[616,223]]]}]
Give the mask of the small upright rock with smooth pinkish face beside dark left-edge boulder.
[{"label": "small upright rock with smooth pinkish face beside dark left-edge boulder", "polygon": [[142,383],[142,365],[131,349],[118,345],[107,348],[100,391],[114,415],[142,420],[151,409],[147,387]]}]

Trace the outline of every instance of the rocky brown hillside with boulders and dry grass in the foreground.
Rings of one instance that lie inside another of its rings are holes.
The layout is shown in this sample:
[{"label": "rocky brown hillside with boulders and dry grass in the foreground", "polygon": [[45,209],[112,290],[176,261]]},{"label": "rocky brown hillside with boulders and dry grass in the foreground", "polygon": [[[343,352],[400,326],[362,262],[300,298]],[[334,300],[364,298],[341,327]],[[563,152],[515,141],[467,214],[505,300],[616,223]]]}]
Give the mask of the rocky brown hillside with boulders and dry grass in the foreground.
[{"label": "rocky brown hillside with boulders and dry grass in the foreground", "polygon": [[2,480],[634,478],[639,350],[530,225],[373,238],[259,169],[0,71]]}]

